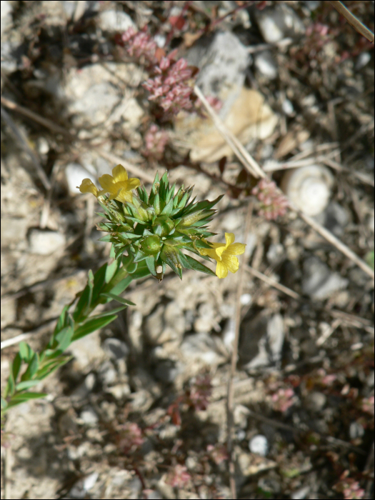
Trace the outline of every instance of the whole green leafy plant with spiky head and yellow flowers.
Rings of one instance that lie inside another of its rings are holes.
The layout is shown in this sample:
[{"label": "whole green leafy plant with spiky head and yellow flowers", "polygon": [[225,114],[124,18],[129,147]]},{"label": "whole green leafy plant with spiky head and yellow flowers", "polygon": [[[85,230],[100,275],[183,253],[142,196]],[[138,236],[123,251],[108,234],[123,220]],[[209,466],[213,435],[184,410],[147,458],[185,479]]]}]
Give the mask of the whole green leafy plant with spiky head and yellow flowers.
[{"label": "whole green leafy plant with spiky head and yellow flowers", "polygon": [[[207,241],[215,233],[206,224],[216,212],[212,207],[222,196],[214,201],[191,200],[193,188],[181,186],[176,191],[175,185],[169,186],[167,173],[161,179],[156,174],[148,194],[139,179],[128,178],[122,165],[115,166],[112,175],[101,176],[99,183],[101,190],[84,179],[79,189],[81,193],[94,194],[104,210],[99,215],[106,221],[97,227],[108,233],[101,241],[112,244],[110,256],[114,261],[101,266],[95,274],[89,271],[86,287],[64,307],[44,349],[36,352],[26,342],[19,344],[19,353],[10,363],[8,383],[1,396],[1,415],[12,406],[46,396],[29,389],[71,359],[64,354],[70,344],[111,323],[127,306],[135,305],[120,296],[134,279],[151,274],[160,282],[166,266],[180,279],[183,269],[219,278],[239,269],[236,256],[244,253],[246,245],[234,243],[234,234],[226,233],[225,243]],[[216,273],[183,251],[216,261]],[[97,306],[112,300],[120,306],[91,314]],[[74,311],[70,311],[74,304]]]}]

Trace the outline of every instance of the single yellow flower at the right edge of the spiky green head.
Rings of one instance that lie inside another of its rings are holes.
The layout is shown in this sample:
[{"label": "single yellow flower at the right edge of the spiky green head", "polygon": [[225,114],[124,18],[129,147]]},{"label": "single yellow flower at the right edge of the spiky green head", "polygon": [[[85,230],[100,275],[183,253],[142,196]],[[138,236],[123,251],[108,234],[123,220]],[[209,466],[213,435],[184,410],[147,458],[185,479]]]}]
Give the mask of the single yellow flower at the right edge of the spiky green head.
[{"label": "single yellow flower at the right edge of the spiky green head", "polygon": [[226,278],[228,271],[236,273],[239,270],[239,259],[236,255],[241,255],[245,251],[245,244],[234,243],[234,234],[225,234],[225,243],[211,243],[212,249],[199,249],[201,255],[208,255],[211,259],[215,259],[216,276]]}]

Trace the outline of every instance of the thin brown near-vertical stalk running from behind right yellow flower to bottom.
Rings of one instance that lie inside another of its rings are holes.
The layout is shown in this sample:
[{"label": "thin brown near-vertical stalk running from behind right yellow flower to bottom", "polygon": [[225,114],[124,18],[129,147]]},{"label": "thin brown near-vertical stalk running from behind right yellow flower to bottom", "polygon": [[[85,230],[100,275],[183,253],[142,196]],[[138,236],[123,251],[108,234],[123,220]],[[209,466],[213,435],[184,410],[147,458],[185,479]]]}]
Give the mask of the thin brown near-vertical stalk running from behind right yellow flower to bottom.
[{"label": "thin brown near-vertical stalk running from behind right yellow flower to bottom", "polygon": [[[250,221],[251,221],[251,213],[253,211],[253,204],[250,202],[247,212],[246,212],[246,223],[245,223],[245,232],[244,232],[244,241],[246,241],[247,236],[249,234],[250,229]],[[233,341],[233,351],[231,354],[231,371],[229,374],[228,380],[228,392],[226,399],[226,446],[229,455],[229,486],[231,489],[231,498],[236,499],[236,481],[234,479],[235,470],[234,470],[234,457],[233,457],[233,411],[234,411],[234,385],[233,379],[234,374],[236,373],[237,366],[237,357],[239,353],[239,326],[241,324],[241,295],[244,284],[244,271],[245,271],[245,259],[246,254],[241,257],[240,262],[240,271],[239,271],[239,283],[236,294],[236,330],[234,334]]]}]

